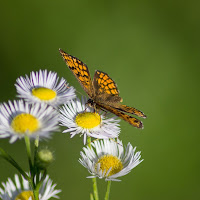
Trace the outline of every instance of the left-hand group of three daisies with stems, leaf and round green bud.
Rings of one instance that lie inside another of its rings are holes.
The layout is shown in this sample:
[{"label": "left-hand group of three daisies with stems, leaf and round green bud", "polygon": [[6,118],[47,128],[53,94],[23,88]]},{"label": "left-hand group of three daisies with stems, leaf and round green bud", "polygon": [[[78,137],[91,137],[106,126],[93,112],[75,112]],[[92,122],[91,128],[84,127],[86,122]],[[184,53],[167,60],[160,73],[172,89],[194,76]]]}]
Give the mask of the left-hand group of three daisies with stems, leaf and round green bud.
[{"label": "left-hand group of three daisies with stems, leaf and round green bud", "polygon": [[[21,178],[15,175],[14,182],[8,178],[6,183],[2,183],[0,199],[59,198],[57,194],[61,190],[55,189],[56,184],[53,184],[46,174],[48,165],[53,161],[53,154],[48,149],[39,149],[38,146],[39,140],[48,139],[53,132],[59,131],[58,108],[76,97],[75,89],[69,86],[64,78],[59,79],[57,73],[47,70],[19,77],[15,86],[20,99],[0,104],[0,138],[9,138],[10,143],[25,139],[30,173],[24,172],[20,165],[0,148],[0,156],[22,174]],[[34,162],[30,155],[30,140],[35,140]]]}]

